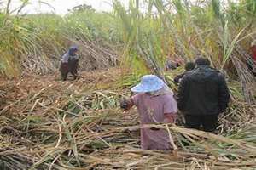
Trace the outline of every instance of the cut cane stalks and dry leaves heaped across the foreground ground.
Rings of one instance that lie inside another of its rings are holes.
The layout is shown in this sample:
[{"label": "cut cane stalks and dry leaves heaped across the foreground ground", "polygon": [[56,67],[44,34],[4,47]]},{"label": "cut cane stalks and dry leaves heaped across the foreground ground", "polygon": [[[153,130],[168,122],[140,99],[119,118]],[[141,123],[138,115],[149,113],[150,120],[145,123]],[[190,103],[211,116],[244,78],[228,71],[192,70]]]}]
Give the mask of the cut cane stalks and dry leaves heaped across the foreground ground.
[{"label": "cut cane stalks and dry leaves heaped across the foreground ground", "polygon": [[2,84],[1,169],[256,168],[255,105],[234,101],[221,116],[221,135],[148,125],[168,129],[179,149],[140,150],[136,109],[119,110],[124,91],[97,89],[116,81],[101,78]]}]

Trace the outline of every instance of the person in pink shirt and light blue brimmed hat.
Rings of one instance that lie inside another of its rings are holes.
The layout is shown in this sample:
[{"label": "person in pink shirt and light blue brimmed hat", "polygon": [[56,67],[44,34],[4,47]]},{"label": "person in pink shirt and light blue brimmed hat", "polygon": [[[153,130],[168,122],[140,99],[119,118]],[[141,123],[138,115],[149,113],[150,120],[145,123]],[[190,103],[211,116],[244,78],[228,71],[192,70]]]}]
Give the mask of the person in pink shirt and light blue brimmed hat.
[{"label": "person in pink shirt and light blue brimmed hat", "polygon": [[[121,101],[121,108],[129,110],[137,106],[141,125],[174,123],[177,115],[177,103],[170,88],[159,77],[143,76],[141,82],[131,91],[137,93],[131,99]],[[166,130],[158,128],[141,129],[141,146],[144,150],[173,149],[172,136]],[[170,139],[171,137],[171,139]],[[172,146],[171,146],[172,144]],[[174,144],[175,145],[175,144]]]}]

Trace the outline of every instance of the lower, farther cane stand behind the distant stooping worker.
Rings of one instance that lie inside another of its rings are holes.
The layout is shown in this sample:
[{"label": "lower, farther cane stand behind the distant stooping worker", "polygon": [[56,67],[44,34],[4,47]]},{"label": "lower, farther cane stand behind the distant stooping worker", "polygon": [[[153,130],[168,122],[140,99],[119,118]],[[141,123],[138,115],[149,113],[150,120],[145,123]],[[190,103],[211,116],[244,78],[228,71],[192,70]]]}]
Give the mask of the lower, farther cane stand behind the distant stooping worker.
[{"label": "lower, farther cane stand behind the distant stooping worker", "polygon": [[96,13],[90,8],[74,9],[64,17],[9,15],[2,11],[0,71],[7,77],[18,77],[22,71],[37,74],[56,71],[61,55],[71,44],[79,45],[84,70],[115,65],[117,30],[117,23],[110,14]]}]

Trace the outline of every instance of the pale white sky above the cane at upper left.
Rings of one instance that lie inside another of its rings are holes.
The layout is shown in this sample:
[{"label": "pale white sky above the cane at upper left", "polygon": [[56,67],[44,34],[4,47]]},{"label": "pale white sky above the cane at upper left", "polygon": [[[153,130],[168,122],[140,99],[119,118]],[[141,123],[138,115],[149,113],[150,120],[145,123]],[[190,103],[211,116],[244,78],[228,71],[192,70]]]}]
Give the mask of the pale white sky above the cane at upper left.
[{"label": "pale white sky above the cane at upper left", "polygon": [[[38,3],[40,0],[29,0],[30,5],[23,9],[23,13],[51,13],[56,14],[67,14],[67,9],[71,9],[80,4],[91,5],[98,11],[111,11],[112,10],[112,0],[41,0],[42,2],[49,3],[46,5],[44,3]],[[119,0],[122,3],[128,3],[128,0]],[[3,1],[4,2],[4,1]],[[7,2],[7,1],[5,1]],[[20,0],[12,0],[11,8],[17,8],[20,5]]]}]

